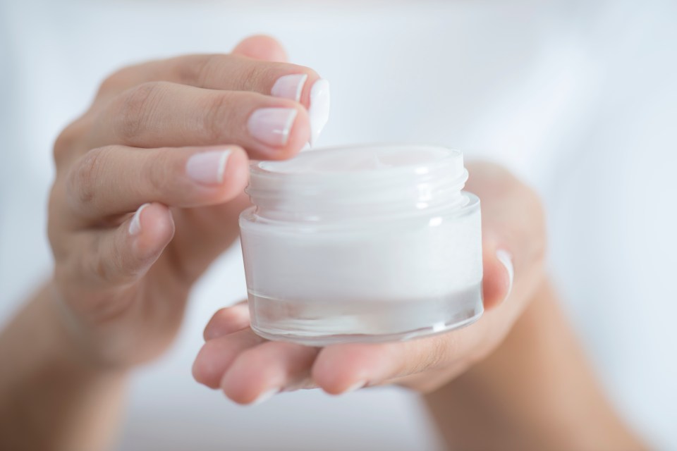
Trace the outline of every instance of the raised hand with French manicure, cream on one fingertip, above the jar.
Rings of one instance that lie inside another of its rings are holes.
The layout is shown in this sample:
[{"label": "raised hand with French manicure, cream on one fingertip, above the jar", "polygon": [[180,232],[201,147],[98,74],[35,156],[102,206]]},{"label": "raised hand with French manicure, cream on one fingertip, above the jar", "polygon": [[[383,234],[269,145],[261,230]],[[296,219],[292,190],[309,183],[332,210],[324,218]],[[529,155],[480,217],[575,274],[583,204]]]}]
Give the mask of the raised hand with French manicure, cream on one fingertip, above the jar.
[{"label": "raised hand with French manicure, cream on one fingertip, above the jar", "polygon": [[248,158],[286,159],[317,136],[326,82],[284,59],[252,37],[123,68],[56,140],[52,292],[87,359],[124,368],[163,351],[238,235]]}]

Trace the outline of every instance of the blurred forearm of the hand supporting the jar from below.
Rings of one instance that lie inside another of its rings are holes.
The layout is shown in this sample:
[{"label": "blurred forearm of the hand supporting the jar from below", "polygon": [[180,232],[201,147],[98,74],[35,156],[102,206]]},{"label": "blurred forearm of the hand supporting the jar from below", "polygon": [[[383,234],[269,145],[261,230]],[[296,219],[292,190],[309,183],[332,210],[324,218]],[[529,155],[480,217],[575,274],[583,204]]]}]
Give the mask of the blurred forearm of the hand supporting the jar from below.
[{"label": "blurred forearm of the hand supporting the jar from below", "polygon": [[547,283],[499,348],[425,400],[451,449],[644,447],[605,399]]}]

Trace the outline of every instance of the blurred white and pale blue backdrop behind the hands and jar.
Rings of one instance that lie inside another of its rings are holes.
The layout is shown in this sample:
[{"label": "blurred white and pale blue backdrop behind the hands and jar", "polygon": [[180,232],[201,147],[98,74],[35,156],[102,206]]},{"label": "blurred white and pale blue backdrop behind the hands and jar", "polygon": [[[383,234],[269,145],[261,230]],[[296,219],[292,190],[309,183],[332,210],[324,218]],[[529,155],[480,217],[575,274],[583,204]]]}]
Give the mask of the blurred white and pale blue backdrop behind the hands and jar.
[{"label": "blurred white and pale blue backdrop behind the hands and jar", "polygon": [[[100,80],[266,32],[331,81],[321,145],[449,144],[537,188],[552,273],[607,392],[677,449],[676,19],[661,0],[0,0],[0,321],[49,275],[51,142]],[[245,297],[238,252],[200,280],[171,351],[138,371],[120,449],[436,449],[396,389],[240,408],[197,385],[202,328]]]}]

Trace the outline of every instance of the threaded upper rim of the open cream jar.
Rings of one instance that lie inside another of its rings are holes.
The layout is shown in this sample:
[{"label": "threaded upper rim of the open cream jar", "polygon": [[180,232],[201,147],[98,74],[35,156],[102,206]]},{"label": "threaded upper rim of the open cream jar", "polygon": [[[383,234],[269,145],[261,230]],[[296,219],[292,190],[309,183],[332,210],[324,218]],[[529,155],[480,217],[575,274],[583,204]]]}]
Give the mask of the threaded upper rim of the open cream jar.
[{"label": "threaded upper rim of the open cream jar", "polygon": [[360,144],[252,163],[245,192],[258,214],[324,218],[461,206],[463,153],[425,144]]}]

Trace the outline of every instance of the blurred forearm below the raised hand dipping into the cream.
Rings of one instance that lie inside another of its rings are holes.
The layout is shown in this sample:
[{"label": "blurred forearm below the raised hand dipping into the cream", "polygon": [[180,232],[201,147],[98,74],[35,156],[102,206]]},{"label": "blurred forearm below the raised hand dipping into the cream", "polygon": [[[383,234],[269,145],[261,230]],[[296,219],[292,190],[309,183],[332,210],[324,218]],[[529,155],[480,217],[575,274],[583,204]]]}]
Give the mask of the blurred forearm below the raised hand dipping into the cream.
[{"label": "blurred forearm below the raised hand dipping into the cream", "polygon": [[104,450],[114,435],[126,374],[75,350],[42,289],[0,334],[0,448]]}]

